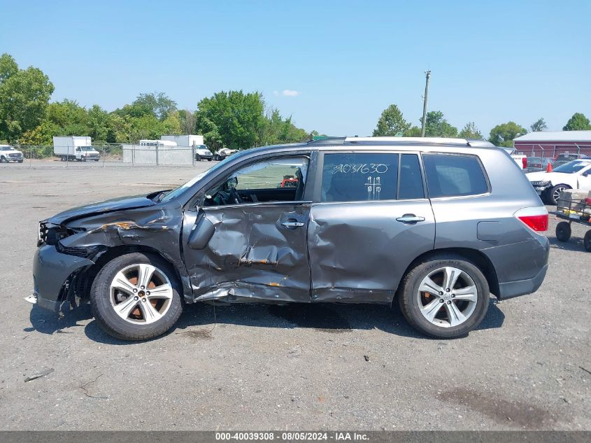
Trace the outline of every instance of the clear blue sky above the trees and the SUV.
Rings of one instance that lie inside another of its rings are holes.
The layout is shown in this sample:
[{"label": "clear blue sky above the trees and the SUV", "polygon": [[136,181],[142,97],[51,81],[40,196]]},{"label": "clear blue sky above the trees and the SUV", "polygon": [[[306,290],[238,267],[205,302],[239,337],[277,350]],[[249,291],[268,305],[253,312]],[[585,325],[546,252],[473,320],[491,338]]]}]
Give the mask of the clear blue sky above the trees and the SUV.
[{"label": "clear blue sky above the trees and the SUV", "polygon": [[[0,52],[108,111],[141,92],[181,108],[257,90],[299,127],[370,135],[397,104],[485,134],[591,117],[591,1],[6,1]],[[287,91],[284,93],[284,91]]]}]

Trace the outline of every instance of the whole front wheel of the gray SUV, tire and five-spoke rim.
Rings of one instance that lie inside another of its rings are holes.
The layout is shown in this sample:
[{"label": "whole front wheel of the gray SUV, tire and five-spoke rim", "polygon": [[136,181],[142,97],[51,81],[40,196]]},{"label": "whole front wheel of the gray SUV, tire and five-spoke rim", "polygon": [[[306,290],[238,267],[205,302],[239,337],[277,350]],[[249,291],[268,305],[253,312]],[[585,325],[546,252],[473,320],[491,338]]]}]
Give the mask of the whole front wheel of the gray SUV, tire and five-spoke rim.
[{"label": "whole front wheel of the gray SUV, tire and five-spoke rim", "polygon": [[180,286],[168,262],[157,255],[129,253],[97,274],[90,290],[94,318],[109,335],[145,340],[164,334],[183,311]]}]

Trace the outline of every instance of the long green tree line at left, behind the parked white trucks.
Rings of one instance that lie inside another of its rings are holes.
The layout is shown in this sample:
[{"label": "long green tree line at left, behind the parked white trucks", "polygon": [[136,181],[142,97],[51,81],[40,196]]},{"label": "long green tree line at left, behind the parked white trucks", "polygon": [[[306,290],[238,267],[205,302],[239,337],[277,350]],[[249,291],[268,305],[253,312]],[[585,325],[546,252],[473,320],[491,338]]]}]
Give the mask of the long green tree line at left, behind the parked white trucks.
[{"label": "long green tree line at left, behind the parked white trucks", "polygon": [[[266,106],[259,92],[217,92],[199,101],[197,111],[179,109],[162,92],[140,94],[131,104],[108,112],[70,99],[50,103],[54,85],[38,68],[20,69],[8,54],[0,56],[0,141],[48,146],[55,135],[91,136],[101,143],[136,143],[163,134],[202,134],[219,148],[306,141],[315,131],[296,127]],[[48,153],[49,154],[49,153]]]}]

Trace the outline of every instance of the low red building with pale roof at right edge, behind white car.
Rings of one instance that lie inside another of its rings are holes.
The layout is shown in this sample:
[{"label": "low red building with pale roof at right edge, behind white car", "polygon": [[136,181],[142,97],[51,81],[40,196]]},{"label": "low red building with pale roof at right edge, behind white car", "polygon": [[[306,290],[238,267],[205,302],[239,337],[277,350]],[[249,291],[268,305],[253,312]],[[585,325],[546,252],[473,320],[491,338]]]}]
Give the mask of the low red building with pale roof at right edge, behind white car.
[{"label": "low red building with pale roof at right edge, behind white car", "polygon": [[513,142],[528,157],[591,157],[591,131],[530,132]]}]

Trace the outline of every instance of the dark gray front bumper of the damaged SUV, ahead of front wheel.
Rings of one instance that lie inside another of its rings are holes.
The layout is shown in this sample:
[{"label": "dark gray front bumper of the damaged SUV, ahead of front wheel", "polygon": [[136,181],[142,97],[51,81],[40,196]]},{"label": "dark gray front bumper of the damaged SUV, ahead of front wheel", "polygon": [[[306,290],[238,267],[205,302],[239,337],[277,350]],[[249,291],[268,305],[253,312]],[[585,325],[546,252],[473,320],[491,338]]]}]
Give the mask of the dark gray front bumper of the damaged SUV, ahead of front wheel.
[{"label": "dark gray front bumper of the damaged SUV, ahead of front wheel", "polygon": [[62,254],[55,246],[37,248],[33,259],[33,295],[39,307],[57,312],[64,302],[64,283],[75,272],[94,265],[94,262],[76,255]]}]

